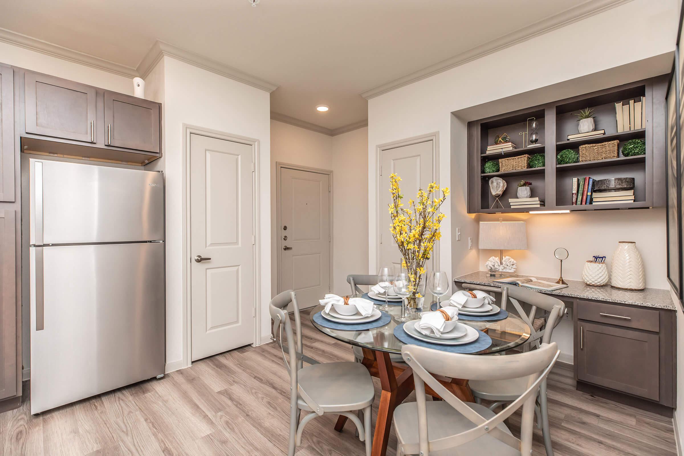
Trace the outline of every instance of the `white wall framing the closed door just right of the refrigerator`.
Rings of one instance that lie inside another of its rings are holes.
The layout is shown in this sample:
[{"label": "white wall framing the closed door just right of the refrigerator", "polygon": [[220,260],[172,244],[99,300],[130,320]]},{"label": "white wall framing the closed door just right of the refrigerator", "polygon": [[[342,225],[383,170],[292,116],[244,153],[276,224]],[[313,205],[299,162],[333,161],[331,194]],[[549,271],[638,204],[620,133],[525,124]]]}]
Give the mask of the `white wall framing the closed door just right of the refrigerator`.
[{"label": "white wall framing the closed door just right of the refrigerator", "polygon": [[183,124],[259,140],[262,340],[270,334],[270,98],[268,92],[171,57],[163,57],[158,65],[163,65],[166,117],[166,362],[170,369],[183,366],[183,262],[187,259],[182,243]]}]

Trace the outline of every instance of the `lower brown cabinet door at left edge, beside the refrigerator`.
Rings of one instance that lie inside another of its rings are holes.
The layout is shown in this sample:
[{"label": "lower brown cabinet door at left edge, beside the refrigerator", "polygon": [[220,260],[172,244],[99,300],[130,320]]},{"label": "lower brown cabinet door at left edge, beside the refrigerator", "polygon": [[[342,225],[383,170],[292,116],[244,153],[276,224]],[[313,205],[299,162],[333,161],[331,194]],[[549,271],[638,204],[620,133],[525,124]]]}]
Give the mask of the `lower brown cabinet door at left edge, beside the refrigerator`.
[{"label": "lower brown cabinet door at left edge, beside the refrigerator", "polygon": [[0,210],[0,399],[16,395],[14,211]]}]

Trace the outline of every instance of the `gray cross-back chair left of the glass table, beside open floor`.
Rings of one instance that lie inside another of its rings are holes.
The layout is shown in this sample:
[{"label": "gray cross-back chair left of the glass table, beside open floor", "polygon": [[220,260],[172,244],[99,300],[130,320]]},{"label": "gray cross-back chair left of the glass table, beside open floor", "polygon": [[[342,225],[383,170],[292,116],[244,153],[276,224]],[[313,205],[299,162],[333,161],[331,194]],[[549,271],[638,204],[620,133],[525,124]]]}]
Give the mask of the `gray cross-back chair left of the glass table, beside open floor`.
[{"label": "gray cross-back chair left of the glass table, beside open floor", "polygon": [[[296,336],[287,314],[292,304]],[[302,322],[297,297],[292,290],[283,291],[269,304],[273,319],[273,332],[282,350],[282,360],[290,375],[290,437],[288,455],[295,454],[295,446],[302,444],[302,431],[306,423],[324,414],[343,415],[352,420],[358,430],[358,438],[366,442],[366,456],[371,455],[371,406],[376,390],[373,379],[363,364],[356,362],[319,363],[304,356],[302,348]],[[282,343],[285,327],[287,345]],[[287,349],[288,356],[285,356]],[[304,362],[310,364],[304,366]],[[300,414],[309,412],[300,423]],[[365,425],[353,414],[363,410]]]}]

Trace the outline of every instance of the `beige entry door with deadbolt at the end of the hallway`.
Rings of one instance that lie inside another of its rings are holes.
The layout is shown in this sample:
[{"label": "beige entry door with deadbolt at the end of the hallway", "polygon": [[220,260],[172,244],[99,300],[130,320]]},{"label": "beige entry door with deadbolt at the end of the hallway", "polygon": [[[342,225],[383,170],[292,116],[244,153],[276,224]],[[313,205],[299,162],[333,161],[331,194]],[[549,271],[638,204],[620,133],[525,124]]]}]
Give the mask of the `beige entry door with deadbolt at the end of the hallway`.
[{"label": "beige entry door with deadbolt at the end of the hallway", "polygon": [[330,293],[330,176],[280,168],[278,292],[292,289],[300,308]]}]

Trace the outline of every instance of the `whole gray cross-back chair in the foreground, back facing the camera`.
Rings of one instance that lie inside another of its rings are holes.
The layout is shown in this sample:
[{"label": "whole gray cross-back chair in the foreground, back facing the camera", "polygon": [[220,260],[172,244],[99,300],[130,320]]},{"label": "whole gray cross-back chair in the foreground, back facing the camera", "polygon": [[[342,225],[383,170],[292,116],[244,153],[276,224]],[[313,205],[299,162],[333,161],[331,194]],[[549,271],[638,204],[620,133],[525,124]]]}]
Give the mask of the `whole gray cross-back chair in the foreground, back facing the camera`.
[{"label": "whole gray cross-back chair in the foreground, back facing the camera", "polygon": [[[473,356],[404,345],[404,360],[413,369],[416,402],[402,403],[395,409],[397,456],[528,456],[534,399],[559,353],[555,343],[510,356]],[[478,380],[525,377],[525,391],[495,414],[484,405],[461,401],[434,375]],[[426,401],[425,384],[444,400]],[[518,439],[503,420],[520,407],[523,416]]]}]

